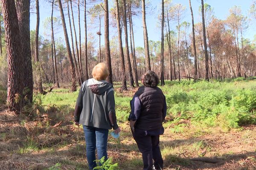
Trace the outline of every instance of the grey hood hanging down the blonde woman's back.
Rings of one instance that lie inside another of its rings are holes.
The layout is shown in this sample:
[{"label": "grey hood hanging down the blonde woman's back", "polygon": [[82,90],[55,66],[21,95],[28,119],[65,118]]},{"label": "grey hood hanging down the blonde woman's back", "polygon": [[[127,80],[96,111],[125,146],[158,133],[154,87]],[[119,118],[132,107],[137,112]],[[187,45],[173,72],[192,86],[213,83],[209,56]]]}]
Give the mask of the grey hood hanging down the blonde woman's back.
[{"label": "grey hood hanging down the blonde woman's back", "polygon": [[105,80],[98,81],[96,79],[88,79],[87,81],[87,86],[94,94],[103,94],[105,91],[112,88],[112,85]]}]

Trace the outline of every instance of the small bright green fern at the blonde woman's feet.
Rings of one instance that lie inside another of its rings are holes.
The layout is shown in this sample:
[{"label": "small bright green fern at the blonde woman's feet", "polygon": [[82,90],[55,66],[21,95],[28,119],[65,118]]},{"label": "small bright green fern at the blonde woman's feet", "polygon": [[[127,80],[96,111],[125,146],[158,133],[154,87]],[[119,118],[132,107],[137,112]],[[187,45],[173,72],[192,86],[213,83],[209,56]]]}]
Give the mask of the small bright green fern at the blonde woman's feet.
[{"label": "small bright green fern at the blonde woman's feet", "polygon": [[96,160],[96,163],[100,166],[94,167],[93,170],[119,170],[118,163],[113,164],[113,159],[109,158],[105,160],[105,156],[101,159]]}]

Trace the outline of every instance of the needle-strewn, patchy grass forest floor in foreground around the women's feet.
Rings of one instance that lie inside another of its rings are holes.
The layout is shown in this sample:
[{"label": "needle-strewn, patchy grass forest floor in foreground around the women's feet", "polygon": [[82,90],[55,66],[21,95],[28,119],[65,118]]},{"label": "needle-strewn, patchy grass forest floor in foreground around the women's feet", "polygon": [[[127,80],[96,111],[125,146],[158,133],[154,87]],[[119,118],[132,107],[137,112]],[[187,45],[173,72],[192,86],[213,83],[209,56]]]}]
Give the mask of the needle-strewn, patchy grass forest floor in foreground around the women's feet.
[{"label": "needle-strewn, patchy grass forest floor in foreground around the women's feet", "polygon": [[[55,92],[72,98],[67,91]],[[123,98],[135,91],[116,95]],[[64,102],[65,98],[61,99]],[[0,169],[88,170],[84,133],[81,126],[73,124],[75,101],[70,105],[52,101],[54,104],[44,108],[35,105],[19,115],[0,110]],[[176,125],[170,124],[172,117],[166,120],[165,133],[160,136],[164,170],[256,170],[256,125],[224,131],[221,127],[195,126],[187,119]],[[120,170],[142,169],[128,121],[119,121],[119,126],[119,139],[109,136],[108,156]]]}]

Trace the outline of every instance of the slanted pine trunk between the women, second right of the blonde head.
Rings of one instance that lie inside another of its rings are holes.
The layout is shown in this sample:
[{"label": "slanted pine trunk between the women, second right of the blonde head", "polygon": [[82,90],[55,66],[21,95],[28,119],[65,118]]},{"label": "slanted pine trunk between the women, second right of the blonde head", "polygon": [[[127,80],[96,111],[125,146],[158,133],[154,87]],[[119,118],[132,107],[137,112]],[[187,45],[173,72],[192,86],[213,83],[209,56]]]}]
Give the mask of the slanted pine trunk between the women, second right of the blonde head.
[{"label": "slanted pine trunk between the women, second right of the blonde head", "polygon": [[118,40],[119,40],[119,55],[121,57],[121,65],[122,65],[122,90],[127,90],[126,75],[125,75],[125,57],[124,57],[124,51],[122,48],[122,32],[120,27],[118,0],[116,0],[116,25],[117,25]]}]

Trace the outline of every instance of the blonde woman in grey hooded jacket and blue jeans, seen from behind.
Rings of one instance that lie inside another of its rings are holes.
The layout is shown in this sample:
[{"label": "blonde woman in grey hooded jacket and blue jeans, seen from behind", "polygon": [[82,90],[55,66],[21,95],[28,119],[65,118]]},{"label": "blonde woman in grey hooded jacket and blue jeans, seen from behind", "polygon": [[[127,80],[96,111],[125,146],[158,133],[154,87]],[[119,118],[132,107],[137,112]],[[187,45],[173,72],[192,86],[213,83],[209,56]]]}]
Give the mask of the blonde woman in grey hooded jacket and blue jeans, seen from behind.
[{"label": "blonde woman in grey hooded jacket and blue jeans, seen from behind", "polygon": [[74,121],[83,125],[86,142],[86,155],[89,169],[96,167],[95,150],[98,159],[107,155],[108,130],[119,133],[121,130],[116,123],[114,91],[111,83],[106,81],[109,75],[104,63],[93,68],[93,78],[86,80],[79,91],[76,100]]}]

